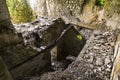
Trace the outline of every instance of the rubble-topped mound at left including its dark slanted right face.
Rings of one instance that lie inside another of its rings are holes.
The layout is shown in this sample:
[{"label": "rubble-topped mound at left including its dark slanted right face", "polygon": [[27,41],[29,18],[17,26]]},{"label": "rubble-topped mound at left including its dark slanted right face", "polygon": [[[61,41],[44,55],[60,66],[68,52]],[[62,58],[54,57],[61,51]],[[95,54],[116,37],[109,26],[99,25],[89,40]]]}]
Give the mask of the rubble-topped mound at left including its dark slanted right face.
[{"label": "rubble-topped mound at left including its dark slanted right face", "polygon": [[30,23],[14,24],[24,45],[40,52],[61,34],[65,23],[61,18],[40,17]]}]

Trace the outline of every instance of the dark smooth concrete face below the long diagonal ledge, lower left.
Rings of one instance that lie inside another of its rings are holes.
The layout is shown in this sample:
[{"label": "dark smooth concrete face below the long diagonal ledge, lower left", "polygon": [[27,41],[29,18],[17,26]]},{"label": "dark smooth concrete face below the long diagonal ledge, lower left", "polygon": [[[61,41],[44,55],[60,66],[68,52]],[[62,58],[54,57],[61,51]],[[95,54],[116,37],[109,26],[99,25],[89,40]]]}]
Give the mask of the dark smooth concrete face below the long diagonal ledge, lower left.
[{"label": "dark smooth concrete face below the long diagonal ledge, lower left", "polygon": [[[47,54],[47,56],[45,56],[45,54]],[[48,60],[44,58],[44,56],[47,57]],[[45,51],[40,53],[37,57],[12,69],[11,73],[15,80],[29,79],[29,77],[36,76],[50,68],[50,63],[50,53]]]}]

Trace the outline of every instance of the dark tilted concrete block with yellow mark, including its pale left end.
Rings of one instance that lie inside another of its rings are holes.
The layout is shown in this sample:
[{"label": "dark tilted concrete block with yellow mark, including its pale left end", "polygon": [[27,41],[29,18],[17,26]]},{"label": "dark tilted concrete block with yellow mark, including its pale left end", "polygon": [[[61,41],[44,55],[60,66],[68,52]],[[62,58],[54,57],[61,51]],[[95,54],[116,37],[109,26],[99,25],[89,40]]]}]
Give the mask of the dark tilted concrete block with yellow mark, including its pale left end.
[{"label": "dark tilted concrete block with yellow mark, including its pale left end", "polygon": [[[78,36],[81,38],[79,39]],[[74,26],[69,26],[65,29],[58,39],[60,40],[51,50],[51,61],[53,63],[65,60],[67,56],[77,57],[86,43],[86,40],[80,35]]]}]

